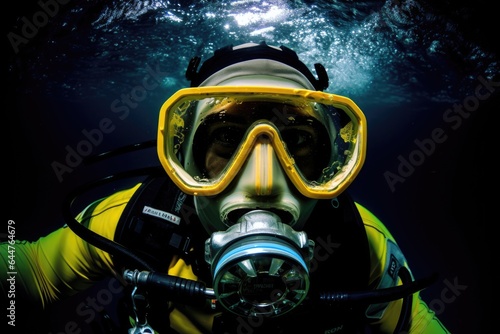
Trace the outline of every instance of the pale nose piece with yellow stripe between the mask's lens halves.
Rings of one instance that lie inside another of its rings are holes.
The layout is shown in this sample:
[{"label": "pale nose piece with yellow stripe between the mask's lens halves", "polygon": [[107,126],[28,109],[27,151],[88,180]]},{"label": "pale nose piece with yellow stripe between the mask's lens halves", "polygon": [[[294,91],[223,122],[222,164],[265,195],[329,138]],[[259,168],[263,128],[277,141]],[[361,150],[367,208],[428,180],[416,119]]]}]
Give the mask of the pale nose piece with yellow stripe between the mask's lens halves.
[{"label": "pale nose piece with yellow stripe between the mask's lens halves", "polygon": [[284,170],[267,136],[260,136],[239,175],[238,188],[258,196],[272,196],[286,187]]}]

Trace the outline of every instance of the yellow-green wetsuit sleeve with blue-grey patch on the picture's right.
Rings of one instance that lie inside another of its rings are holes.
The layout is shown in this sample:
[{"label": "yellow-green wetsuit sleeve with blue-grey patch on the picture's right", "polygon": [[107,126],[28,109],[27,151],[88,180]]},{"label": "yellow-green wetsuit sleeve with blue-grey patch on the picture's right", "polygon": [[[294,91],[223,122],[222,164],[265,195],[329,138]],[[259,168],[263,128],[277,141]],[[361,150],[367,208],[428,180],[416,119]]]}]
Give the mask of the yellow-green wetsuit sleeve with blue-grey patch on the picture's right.
[{"label": "yellow-green wetsuit sleeve with blue-grey patch on the picture's right", "polygon": [[[393,269],[404,266],[411,275],[404,255],[384,224],[369,210],[359,204],[356,205],[370,244],[370,286],[380,289],[401,284]],[[402,300],[371,305],[366,316],[372,319],[380,332],[393,333],[399,320],[401,306]],[[420,298],[418,292],[413,295],[410,321],[409,333],[449,333],[435,313]]]}]

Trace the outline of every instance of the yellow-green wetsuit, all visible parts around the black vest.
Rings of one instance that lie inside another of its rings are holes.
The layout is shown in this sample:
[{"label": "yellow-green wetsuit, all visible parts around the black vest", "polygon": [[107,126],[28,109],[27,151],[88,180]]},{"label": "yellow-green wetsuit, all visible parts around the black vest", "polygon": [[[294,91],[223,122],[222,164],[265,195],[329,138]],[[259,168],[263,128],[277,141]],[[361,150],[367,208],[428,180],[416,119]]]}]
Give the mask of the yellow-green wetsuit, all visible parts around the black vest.
[{"label": "yellow-green wetsuit, all visible parts around the black vest", "polygon": [[[88,227],[100,235],[113,239],[119,217],[139,185],[117,192],[102,200],[91,213]],[[386,272],[388,247],[397,247],[393,237],[370,211],[356,204],[364,222],[370,249],[370,284],[383,282]],[[81,219],[83,213],[79,215]],[[10,246],[10,247],[9,247]],[[78,237],[70,228],[62,227],[36,242],[16,241],[0,244],[0,277],[2,295],[8,291],[7,273],[9,250],[15,249],[16,289],[31,298],[33,305],[46,307],[59,299],[82,291],[106,276],[117,275],[113,259]],[[406,264],[405,264],[406,265]],[[170,275],[196,279],[191,267],[174,257],[168,270]],[[392,333],[397,325],[401,300],[389,303],[376,313],[373,328],[376,332]],[[170,313],[170,324],[179,333],[210,332],[214,314],[203,313],[191,307],[179,307]],[[201,329],[201,330],[200,330]],[[411,314],[410,333],[449,333],[434,312],[415,293]]]}]

